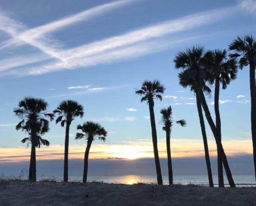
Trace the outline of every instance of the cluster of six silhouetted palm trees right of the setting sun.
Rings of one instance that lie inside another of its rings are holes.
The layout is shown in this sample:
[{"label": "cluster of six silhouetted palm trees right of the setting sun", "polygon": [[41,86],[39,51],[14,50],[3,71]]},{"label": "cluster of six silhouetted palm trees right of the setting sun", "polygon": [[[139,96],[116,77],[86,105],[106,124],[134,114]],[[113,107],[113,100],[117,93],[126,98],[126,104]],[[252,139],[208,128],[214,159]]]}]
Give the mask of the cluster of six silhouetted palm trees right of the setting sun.
[{"label": "cluster of six silhouetted palm trees right of the setting sun", "polygon": [[[219,94],[220,84],[222,89],[227,89],[227,85],[237,77],[238,67],[242,69],[244,66],[250,67],[250,92],[251,92],[251,132],[253,143],[253,159],[256,178],[256,84],[255,84],[255,68],[256,68],[256,40],[252,36],[237,37],[230,45],[229,50],[216,49],[206,50],[203,46],[192,46],[179,52],[175,56],[175,68],[180,70],[178,74],[179,84],[182,87],[189,87],[194,92],[197,99],[197,109],[199,113],[202,137],[204,142],[205,160],[208,172],[209,186],[213,187],[213,176],[210,167],[209,151],[207,145],[207,136],[205,131],[205,117],[213,132],[218,154],[218,183],[219,187],[224,187],[223,168],[227,174],[227,179],[231,187],[235,187],[235,183],[231,174],[227,157],[225,155],[221,143],[221,121],[219,111]],[[232,53],[234,52],[234,53]],[[214,104],[215,104],[215,122],[210,114],[205,95],[212,93],[209,85],[215,84]],[[152,139],[157,171],[157,182],[162,184],[161,167],[157,148],[157,131],[154,114],[154,99],[162,100],[164,93],[164,85],[158,80],[144,81],[140,90],[135,91],[135,94],[143,96],[141,102],[146,101],[149,106],[150,122],[152,127]],[[202,110],[203,108],[203,110]],[[172,108],[161,110],[163,130],[167,133],[167,152],[168,152],[168,168],[169,168],[169,183],[172,181],[172,163],[170,152],[170,131],[172,126]],[[177,121],[178,124],[185,126],[184,119]]]}]

